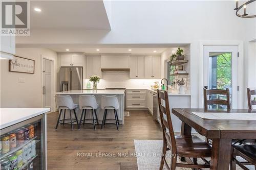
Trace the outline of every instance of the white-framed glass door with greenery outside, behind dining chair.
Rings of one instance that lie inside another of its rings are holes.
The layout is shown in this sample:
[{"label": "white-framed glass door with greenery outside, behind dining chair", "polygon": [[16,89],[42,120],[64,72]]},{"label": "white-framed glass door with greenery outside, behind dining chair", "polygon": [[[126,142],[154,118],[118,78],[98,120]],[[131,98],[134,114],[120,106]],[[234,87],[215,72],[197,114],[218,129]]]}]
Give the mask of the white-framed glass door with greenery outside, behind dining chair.
[{"label": "white-framed glass door with greenery outside, behind dining chair", "polygon": [[[207,89],[229,89],[231,108],[238,108],[238,46],[204,45],[203,83]],[[203,90],[203,88],[202,88]],[[225,95],[209,96],[211,100],[226,99]],[[213,105],[211,108],[226,108]]]}]

